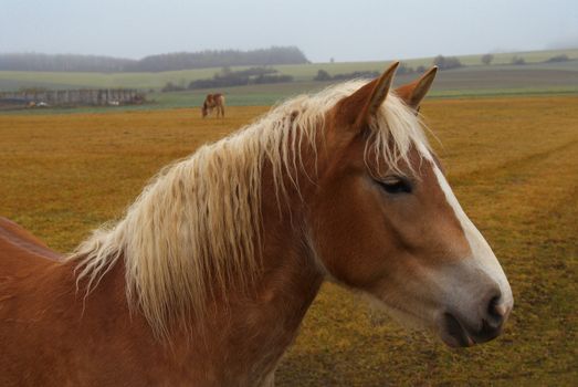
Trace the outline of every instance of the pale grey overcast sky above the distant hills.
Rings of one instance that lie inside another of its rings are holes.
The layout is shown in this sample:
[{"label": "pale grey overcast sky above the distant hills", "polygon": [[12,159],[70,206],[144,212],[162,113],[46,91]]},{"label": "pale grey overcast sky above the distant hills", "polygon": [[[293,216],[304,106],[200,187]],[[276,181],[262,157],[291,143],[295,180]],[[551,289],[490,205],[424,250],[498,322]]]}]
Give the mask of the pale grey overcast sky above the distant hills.
[{"label": "pale grey overcast sky above the distant hills", "polygon": [[296,45],[314,62],[578,48],[578,0],[0,0],[0,52]]}]

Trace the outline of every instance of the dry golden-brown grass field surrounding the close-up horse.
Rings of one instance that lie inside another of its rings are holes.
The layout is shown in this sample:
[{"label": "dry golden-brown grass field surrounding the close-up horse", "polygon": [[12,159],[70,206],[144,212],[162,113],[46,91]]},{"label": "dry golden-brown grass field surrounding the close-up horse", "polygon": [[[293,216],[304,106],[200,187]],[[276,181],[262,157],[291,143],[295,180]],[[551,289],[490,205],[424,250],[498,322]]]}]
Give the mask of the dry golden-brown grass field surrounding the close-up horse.
[{"label": "dry golden-brown grass field surrounding the close-up horse", "polygon": [[[71,250],[158,169],[267,107],[0,116],[0,216]],[[513,385],[578,380],[578,97],[430,101],[422,113],[462,206],[508,275],[505,334],[452,351],[325,285],[280,386]]]}]

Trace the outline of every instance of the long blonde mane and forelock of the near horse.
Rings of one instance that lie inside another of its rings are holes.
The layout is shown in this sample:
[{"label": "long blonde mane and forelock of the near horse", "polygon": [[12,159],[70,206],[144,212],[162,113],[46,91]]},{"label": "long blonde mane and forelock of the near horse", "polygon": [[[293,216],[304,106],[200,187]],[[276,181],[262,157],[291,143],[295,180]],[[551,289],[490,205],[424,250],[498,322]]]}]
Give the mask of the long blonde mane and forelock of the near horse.
[{"label": "long blonde mane and forelock of the near horse", "polygon": [[[326,113],[364,84],[351,81],[297,96],[162,169],[120,221],[94,231],[70,255],[77,261],[77,280],[86,280],[90,292],[123,260],[128,304],[156,334],[168,334],[183,316],[202,321],[208,300],[259,273],[263,166],[272,168],[277,200],[287,178],[298,190],[301,150],[311,145],[316,155]],[[370,126],[367,155],[396,166],[407,160],[412,144],[427,154],[419,117],[393,94]]]}]

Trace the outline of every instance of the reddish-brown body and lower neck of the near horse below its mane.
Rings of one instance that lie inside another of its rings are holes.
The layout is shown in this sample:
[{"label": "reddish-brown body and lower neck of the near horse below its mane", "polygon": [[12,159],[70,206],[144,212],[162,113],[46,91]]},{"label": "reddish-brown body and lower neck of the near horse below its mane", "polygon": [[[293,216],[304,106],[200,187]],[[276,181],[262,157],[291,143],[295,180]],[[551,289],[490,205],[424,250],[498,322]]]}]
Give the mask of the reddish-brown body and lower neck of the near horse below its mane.
[{"label": "reddish-brown body and lower neck of the near horse below its mane", "polygon": [[212,311],[206,333],[167,344],[130,313],[123,264],[84,299],[74,263],[59,262],[40,240],[1,219],[0,385],[269,385],[322,282],[302,253],[286,248],[294,263],[270,264],[255,299],[231,300],[232,310]]}]

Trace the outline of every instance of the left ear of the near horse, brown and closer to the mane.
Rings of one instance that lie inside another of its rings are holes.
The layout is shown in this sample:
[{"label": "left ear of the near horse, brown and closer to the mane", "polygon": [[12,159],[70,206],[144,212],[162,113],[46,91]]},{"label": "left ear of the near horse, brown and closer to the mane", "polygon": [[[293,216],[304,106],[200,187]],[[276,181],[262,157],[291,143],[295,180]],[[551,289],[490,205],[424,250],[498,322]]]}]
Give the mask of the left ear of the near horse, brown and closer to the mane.
[{"label": "left ear of the near horse, brown and closer to the mane", "polygon": [[399,62],[395,62],[380,77],[341,100],[337,108],[339,118],[347,124],[354,124],[357,128],[367,124],[369,118],[377,114],[379,106],[386,101]]}]

